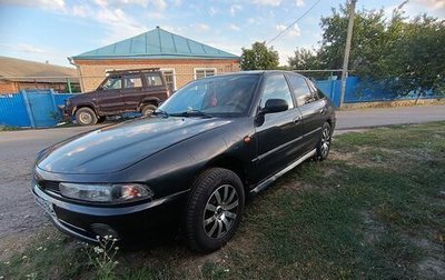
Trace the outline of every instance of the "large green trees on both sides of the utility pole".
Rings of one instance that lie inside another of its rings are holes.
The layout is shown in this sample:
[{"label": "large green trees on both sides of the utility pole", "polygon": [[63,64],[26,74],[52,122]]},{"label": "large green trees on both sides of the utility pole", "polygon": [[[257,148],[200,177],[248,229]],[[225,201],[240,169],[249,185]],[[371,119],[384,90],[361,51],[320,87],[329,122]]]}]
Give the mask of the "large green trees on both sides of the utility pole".
[{"label": "large green trees on both sides of the utility pole", "polygon": [[[409,92],[445,93],[445,21],[426,14],[409,19],[403,6],[387,18],[384,10],[359,10],[348,69],[355,76],[395,96]],[[323,40],[317,50],[297,49],[294,69],[340,69],[345,52],[348,10],[340,6],[322,18]]]}]

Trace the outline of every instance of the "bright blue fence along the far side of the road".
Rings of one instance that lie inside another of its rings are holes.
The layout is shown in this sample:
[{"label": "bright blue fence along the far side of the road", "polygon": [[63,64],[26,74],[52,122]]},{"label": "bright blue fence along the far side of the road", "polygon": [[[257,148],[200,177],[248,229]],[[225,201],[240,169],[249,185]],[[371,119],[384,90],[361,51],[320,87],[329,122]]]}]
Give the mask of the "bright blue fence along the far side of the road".
[{"label": "bright blue fence along the far side of the road", "polygon": [[[320,90],[338,107],[340,101],[340,80],[316,81]],[[72,97],[72,93],[58,93],[53,90],[22,90],[18,93],[0,94],[0,126],[48,128],[60,121],[58,106]],[[396,97],[377,87],[364,88],[359,79],[346,80],[345,103],[414,100],[416,94]],[[429,92],[422,99],[438,99],[441,96]]]}]

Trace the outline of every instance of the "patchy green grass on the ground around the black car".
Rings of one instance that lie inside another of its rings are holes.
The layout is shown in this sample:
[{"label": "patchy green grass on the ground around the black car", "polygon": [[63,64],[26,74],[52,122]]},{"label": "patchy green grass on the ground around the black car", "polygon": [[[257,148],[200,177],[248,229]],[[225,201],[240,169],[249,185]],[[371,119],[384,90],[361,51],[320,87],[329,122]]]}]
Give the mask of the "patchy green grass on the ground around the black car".
[{"label": "patchy green grass on the ground around the black car", "polygon": [[[444,279],[444,170],[445,122],[342,134],[250,201],[220,251],[119,250],[109,279]],[[98,278],[82,248],[57,233],[0,277]]]}]

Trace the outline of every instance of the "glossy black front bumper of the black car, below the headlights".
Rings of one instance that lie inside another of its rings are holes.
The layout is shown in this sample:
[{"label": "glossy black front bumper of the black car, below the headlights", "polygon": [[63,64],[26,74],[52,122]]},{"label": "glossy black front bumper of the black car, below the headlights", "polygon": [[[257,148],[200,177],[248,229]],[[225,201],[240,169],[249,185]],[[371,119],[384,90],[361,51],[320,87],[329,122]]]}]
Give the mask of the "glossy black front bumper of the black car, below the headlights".
[{"label": "glossy black front bumper of the black car, below the headlights", "polygon": [[[37,203],[62,232],[90,243],[97,237],[113,236],[122,243],[141,243],[150,233],[177,226],[184,209],[186,191],[150,202],[122,206],[85,206],[67,202],[32,186]],[[57,196],[57,194],[56,194]]]}]

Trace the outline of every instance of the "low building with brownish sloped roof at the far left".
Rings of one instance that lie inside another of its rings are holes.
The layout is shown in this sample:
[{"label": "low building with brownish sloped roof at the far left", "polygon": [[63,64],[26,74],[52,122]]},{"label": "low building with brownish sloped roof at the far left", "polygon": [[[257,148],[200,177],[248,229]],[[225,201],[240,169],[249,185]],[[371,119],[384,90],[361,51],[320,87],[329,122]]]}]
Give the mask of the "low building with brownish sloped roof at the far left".
[{"label": "low building with brownish sloped roof at the far left", "polygon": [[23,89],[53,89],[67,92],[68,80],[72,89],[79,88],[75,68],[0,57],[0,93],[14,93]]}]

